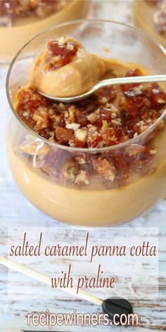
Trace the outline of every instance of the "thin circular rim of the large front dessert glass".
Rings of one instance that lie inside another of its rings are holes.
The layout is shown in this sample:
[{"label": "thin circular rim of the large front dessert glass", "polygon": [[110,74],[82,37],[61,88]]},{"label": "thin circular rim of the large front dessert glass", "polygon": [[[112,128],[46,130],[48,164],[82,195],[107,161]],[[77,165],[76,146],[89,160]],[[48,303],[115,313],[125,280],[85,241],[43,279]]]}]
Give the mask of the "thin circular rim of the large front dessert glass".
[{"label": "thin circular rim of the large front dessert glass", "polygon": [[139,141],[139,139],[142,139],[143,136],[146,136],[146,134],[150,133],[157,125],[158,123],[160,123],[161,120],[164,119],[165,115],[166,115],[166,108],[164,110],[164,112],[162,113],[162,115],[160,115],[160,117],[158,117],[158,120],[155,121],[153,123],[153,125],[151,125],[151,127],[148,127],[148,129],[146,129],[144,132],[142,132],[141,134],[139,134],[136,137],[133,137],[132,139],[129,139],[125,142],[122,143],[118,143],[115,144],[113,146],[104,146],[102,148],[76,148],[76,147],[72,147],[72,146],[64,146],[62,144],[58,144],[56,142],[53,141],[49,141],[48,139],[45,139],[44,137],[40,136],[39,134],[37,134],[37,132],[34,132],[33,129],[31,129],[30,127],[28,127],[25,122],[23,122],[23,120],[20,119],[20,117],[18,116],[18,114],[15,112],[15,109],[13,108],[13,103],[11,102],[11,96],[10,96],[10,91],[9,91],[9,81],[10,81],[10,75],[11,75],[11,70],[13,69],[13,65],[15,64],[15,60],[17,60],[18,56],[20,56],[20,54],[23,52],[23,50],[29,45],[31,44],[32,41],[34,41],[35,39],[37,39],[38,37],[40,37],[42,34],[46,34],[47,32],[50,32],[51,30],[56,30],[60,27],[65,27],[68,25],[75,25],[78,23],[113,23],[115,25],[121,25],[124,27],[127,27],[131,30],[136,31],[139,34],[142,34],[144,37],[146,37],[147,39],[150,39],[153,44],[155,44],[156,46],[158,46],[158,49],[160,49],[160,51],[162,51],[162,53],[166,56],[166,49],[164,48],[164,46],[162,46],[162,44],[160,44],[157,40],[155,40],[153,37],[151,37],[150,34],[147,34],[146,32],[140,30],[137,27],[132,27],[132,25],[127,25],[126,23],[121,23],[115,20],[94,20],[94,19],[87,19],[87,20],[72,20],[69,22],[65,22],[65,23],[60,23],[57,25],[53,25],[52,27],[49,27],[48,29],[40,32],[39,34],[36,34],[32,39],[30,39],[29,41],[27,41],[27,43],[25,45],[23,45],[23,47],[18,51],[18,53],[16,53],[15,57],[13,58],[13,60],[11,61],[11,64],[8,68],[8,72],[6,75],[6,96],[7,96],[7,100],[9,103],[9,106],[11,107],[11,110],[13,112],[13,114],[15,115],[15,118],[18,120],[18,122],[20,122],[21,125],[23,125],[23,127],[25,127],[25,129],[27,129],[28,132],[30,132],[30,134],[32,134],[34,137],[37,137],[37,139],[40,139],[41,141],[43,141],[46,144],[49,144],[51,146],[53,146],[54,148],[62,148],[64,150],[67,151],[77,151],[77,152],[82,152],[82,153],[99,153],[99,152],[104,152],[104,151],[110,151],[110,150],[114,150],[117,148],[123,148],[124,146],[127,146],[128,144],[131,143],[136,143],[137,141]]}]

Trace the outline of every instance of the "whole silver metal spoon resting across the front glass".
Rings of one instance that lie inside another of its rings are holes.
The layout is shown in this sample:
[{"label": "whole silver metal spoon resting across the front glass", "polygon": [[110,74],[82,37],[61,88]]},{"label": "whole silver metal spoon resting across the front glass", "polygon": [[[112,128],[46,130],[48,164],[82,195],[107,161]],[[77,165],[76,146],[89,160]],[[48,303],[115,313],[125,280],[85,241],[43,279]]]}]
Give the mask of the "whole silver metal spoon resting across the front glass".
[{"label": "whole silver metal spoon resting across the front glass", "polygon": [[147,76],[136,76],[136,77],[117,77],[117,78],[109,78],[103,79],[102,81],[98,82],[94,87],[85,92],[84,94],[80,94],[79,96],[72,96],[72,97],[55,97],[55,96],[48,96],[44,94],[44,92],[39,91],[39,93],[53,101],[60,101],[62,103],[73,103],[74,101],[79,101],[81,99],[87,98],[91,96],[96,90],[107,87],[108,85],[120,85],[120,84],[137,84],[137,83],[151,83],[151,82],[166,82],[166,75],[147,75]]}]

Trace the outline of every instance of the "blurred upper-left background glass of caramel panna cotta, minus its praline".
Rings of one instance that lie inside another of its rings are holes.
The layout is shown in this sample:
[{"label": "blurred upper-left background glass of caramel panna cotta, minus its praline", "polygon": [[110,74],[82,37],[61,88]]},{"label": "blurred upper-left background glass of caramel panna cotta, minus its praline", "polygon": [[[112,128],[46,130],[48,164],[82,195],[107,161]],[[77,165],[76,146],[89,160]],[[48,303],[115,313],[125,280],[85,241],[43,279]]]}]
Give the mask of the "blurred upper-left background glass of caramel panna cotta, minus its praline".
[{"label": "blurred upper-left background glass of caramel panna cotta, minus its praline", "polygon": [[[23,3],[24,1],[25,0],[23,0]],[[52,6],[51,10],[50,2],[52,0],[46,1],[49,4],[49,12],[45,15],[40,13],[40,8],[39,15],[34,16],[29,15],[24,17],[22,14],[20,17],[18,15],[18,18],[13,19],[12,14],[4,15],[4,17],[2,14],[0,15],[0,63],[11,62],[15,53],[17,53],[28,40],[34,37],[35,34],[39,34],[52,25],[68,20],[86,18],[91,2],[90,0],[58,0],[58,5]],[[26,4],[24,5],[26,6]],[[0,13],[2,11],[1,6],[2,4],[0,4]],[[48,11],[48,8],[46,8],[46,10]]]}]

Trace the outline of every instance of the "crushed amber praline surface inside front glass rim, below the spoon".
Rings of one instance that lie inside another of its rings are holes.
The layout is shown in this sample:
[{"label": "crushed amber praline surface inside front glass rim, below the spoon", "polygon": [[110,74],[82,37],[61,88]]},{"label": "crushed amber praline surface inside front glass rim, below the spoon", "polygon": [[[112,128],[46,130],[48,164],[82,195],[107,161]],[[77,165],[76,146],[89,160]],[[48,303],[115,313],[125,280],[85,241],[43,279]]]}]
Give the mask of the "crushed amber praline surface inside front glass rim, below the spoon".
[{"label": "crushed amber praline surface inside front glass rim, below the spoon", "polygon": [[158,84],[128,91],[101,89],[73,104],[55,103],[32,89],[18,91],[20,118],[45,139],[76,148],[113,146],[144,132],[158,120],[166,105]]}]

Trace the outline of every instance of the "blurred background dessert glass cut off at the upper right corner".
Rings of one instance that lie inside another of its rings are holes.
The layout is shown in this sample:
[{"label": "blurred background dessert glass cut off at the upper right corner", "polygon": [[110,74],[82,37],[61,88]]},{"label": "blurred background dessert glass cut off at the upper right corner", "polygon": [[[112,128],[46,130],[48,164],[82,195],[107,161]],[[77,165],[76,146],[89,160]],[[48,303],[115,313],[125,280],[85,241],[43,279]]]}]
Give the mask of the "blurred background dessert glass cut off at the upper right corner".
[{"label": "blurred background dessert glass cut off at the upper right corner", "polygon": [[133,0],[134,21],[137,27],[151,34],[166,47],[166,4],[161,0]]}]

